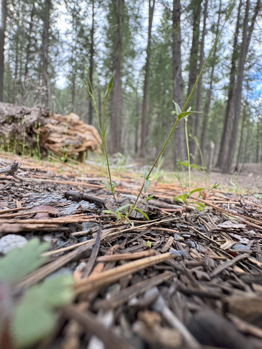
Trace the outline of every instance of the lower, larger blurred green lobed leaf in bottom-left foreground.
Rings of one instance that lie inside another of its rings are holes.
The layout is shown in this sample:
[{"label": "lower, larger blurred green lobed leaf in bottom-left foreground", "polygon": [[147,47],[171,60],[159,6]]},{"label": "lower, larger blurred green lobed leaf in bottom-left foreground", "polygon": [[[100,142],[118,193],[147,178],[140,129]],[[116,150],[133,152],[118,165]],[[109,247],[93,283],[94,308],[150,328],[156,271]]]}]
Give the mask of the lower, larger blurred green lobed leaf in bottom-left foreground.
[{"label": "lower, larger blurred green lobed leaf in bottom-left foreground", "polygon": [[50,277],[25,292],[14,311],[11,328],[16,348],[31,346],[54,329],[54,308],[73,299],[72,283],[68,276]]}]

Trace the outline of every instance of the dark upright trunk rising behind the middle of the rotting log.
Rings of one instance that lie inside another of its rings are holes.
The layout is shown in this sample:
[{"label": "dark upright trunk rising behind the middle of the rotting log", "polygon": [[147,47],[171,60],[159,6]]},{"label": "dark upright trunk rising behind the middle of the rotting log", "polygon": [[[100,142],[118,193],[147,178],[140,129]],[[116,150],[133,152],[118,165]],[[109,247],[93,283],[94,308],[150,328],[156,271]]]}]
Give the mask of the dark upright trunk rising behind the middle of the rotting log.
[{"label": "dark upright trunk rising behind the middle of the rotting log", "polygon": [[49,49],[49,29],[50,29],[50,12],[52,2],[45,0],[44,18],[43,18],[43,36],[42,36],[42,88],[43,104],[48,106],[49,102],[49,79],[48,79],[48,49]]}]

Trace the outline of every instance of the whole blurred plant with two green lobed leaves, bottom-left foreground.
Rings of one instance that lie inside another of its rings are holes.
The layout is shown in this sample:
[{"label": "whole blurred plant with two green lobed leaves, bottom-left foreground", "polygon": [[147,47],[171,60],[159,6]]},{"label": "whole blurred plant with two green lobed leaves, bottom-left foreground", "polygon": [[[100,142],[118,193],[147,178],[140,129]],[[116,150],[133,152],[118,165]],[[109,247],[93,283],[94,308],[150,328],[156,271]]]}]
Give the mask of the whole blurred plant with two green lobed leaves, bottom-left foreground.
[{"label": "whole blurred plant with two green lobed leaves, bottom-left foreground", "polygon": [[51,276],[26,290],[19,282],[45,261],[48,243],[30,240],[0,259],[0,348],[8,342],[22,349],[48,335],[56,326],[55,310],[73,299],[72,278]]}]

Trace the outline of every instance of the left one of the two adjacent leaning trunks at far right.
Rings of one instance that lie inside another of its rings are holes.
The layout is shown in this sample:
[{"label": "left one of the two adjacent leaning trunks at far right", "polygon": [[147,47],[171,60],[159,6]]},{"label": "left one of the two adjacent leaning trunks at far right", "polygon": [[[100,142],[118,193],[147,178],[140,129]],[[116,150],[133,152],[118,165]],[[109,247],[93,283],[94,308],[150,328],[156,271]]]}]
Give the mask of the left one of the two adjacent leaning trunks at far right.
[{"label": "left one of the two adjacent leaning trunks at far right", "polygon": [[223,132],[221,136],[218,159],[217,159],[218,167],[221,167],[223,165],[225,153],[227,151],[228,137],[230,135],[231,126],[232,126],[232,117],[230,115],[230,108],[234,104],[233,90],[235,86],[236,62],[238,60],[238,35],[239,35],[239,26],[240,26],[241,6],[242,6],[242,0],[239,0],[238,15],[236,17],[236,26],[235,26],[235,32],[234,32],[233,53],[231,58],[231,69],[230,69],[230,77],[229,77],[229,85],[228,85],[228,93],[227,93],[227,104],[226,104],[226,110],[225,110]]}]

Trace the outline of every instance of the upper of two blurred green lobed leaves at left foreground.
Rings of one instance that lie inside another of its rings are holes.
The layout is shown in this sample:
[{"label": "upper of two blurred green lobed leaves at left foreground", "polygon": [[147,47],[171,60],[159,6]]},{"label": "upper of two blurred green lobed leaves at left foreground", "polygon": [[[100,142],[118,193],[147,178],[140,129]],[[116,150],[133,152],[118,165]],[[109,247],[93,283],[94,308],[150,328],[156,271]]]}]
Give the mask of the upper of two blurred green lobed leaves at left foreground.
[{"label": "upper of two blurred green lobed leaves at left foreground", "polygon": [[37,269],[46,260],[39,257],[47,250],[48,243],[40,243],[37,238],[31,239],[23,248],[14,248],[0,259],[0,280],[18,282],[24,276]]}]

